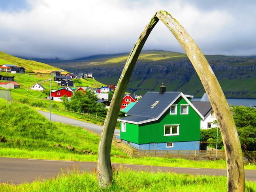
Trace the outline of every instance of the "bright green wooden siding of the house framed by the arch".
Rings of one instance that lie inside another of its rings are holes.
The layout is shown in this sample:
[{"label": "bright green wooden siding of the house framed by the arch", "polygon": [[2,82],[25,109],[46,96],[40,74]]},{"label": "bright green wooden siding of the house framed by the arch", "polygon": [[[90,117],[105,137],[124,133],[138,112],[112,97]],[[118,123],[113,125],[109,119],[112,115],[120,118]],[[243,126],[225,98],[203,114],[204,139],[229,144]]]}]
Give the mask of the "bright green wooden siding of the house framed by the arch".
[{"label": "bright green wooden siding of the house framed by the arch", "polygon": [[[179,98],[177,115],[170,115],[170,109],[158,121],[146,124],[126,123],[126,132],[120,132],[120,138],[137,144],[164,143],[200,140],[200,116],[192,107],[188,107],[188,115],[181,115],[181,105],[187,104]],[[179,124],[179,136],[164,136],[164,125]]]}]

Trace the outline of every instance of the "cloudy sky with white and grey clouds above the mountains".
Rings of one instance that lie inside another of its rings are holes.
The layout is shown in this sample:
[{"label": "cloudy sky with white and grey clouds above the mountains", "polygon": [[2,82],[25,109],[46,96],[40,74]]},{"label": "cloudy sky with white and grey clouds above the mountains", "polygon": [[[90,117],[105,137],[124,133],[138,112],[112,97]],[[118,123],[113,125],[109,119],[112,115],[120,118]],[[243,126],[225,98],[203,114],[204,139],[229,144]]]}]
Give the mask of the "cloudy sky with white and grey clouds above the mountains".
[{"label": "cloudy sky with white and grey clouds above the mountains", "polygon": [[[61,59],[129,53],[159,10],[205,55],[256,55],[255,0],[0,0],[0,51]],[[162,22],[143,49],[183,52]]]}]

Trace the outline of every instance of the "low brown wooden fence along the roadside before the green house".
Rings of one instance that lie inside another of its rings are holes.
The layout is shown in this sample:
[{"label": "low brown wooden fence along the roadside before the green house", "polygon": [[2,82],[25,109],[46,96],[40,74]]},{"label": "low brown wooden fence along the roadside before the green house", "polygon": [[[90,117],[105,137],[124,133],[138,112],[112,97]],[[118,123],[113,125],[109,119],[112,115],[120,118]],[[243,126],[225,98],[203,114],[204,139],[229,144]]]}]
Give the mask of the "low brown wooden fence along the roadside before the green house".
[{"label": "low brown wooden fence along the roadside before the green house", "polygon": [[113,145],[125,152],[130,157],[169,157],[169,158],[186,158],[190,160],[215,160],[225,159],[225,151],[196,151],[196,150],[139,150],[113,141]]}]

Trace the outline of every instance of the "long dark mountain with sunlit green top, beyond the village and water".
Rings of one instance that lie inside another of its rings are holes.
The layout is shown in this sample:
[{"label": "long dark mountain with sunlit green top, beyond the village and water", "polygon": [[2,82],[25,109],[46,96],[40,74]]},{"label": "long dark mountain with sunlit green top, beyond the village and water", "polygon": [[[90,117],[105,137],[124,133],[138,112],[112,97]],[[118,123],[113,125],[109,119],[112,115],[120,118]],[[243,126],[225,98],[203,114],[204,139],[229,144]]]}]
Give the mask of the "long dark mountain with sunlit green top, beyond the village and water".
[{"label": "long dark mountain with sunlit green top, beyond the village and water", "polygon": [[[206,55],[227,98],[256,98],[256,58]],[[48,64],[70,72],[93,73],[104,84],[117,84],[128,53],[94,55],[75,60],[54,60]],[[142,51],[127,92],[145,94],[158,91],[164,83],[168,91],[182,91],[201,97],[205,92],[191,62],[183,53]]]}]

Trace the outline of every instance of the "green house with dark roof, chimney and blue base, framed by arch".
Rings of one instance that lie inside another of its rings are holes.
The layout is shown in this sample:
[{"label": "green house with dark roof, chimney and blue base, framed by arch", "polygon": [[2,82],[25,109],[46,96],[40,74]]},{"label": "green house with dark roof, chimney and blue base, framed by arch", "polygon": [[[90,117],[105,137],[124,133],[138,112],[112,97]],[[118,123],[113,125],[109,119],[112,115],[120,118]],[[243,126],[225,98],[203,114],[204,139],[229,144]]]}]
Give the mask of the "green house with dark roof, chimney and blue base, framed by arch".
[{"label": "green house with dark roof, chimney and blue base, framed by arch", "polygon": [[147,92],[120,118],[120,139],[135,149],[199,150],[203,115],[182,92]]}]

